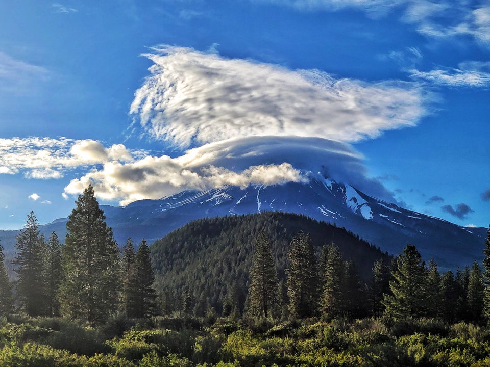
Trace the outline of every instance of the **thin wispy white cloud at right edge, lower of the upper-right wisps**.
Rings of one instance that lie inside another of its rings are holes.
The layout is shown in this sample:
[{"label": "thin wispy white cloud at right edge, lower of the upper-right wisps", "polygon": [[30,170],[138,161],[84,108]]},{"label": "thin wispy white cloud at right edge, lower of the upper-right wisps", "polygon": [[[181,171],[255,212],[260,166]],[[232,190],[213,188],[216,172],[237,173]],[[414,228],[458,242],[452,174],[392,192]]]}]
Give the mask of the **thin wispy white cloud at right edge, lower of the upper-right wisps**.
[{"label": "thin wispy white cloud at right edge, lower of the upper-right wisps", "polygon": [[490,72],[485,71],[488,63],[466,62],[459,68],[444,68],[431,71],[409,70],[413,78],[428,81],[432,84],[448,87],[479,87],[490,86]]}]

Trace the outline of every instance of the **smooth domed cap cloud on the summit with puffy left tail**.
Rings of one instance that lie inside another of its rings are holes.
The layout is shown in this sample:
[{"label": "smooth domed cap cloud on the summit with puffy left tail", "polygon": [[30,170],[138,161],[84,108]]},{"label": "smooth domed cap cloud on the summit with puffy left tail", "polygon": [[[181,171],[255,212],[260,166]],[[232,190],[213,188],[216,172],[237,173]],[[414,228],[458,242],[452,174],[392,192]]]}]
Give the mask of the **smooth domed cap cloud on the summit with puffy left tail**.
[{"label": "smooth domed cap cloud on the summit with puffy left tail", "polygon": [[193,148],[177,158],[163,155],[131,163],[109,162],[72,180],[65,195],[79,194],[91,183],[97,197],[124,205],[187,189],[305,182],[319,171],[393,200],[379,181],[366,178],[361,156],[347,144],[299,137],[240,138]]}]

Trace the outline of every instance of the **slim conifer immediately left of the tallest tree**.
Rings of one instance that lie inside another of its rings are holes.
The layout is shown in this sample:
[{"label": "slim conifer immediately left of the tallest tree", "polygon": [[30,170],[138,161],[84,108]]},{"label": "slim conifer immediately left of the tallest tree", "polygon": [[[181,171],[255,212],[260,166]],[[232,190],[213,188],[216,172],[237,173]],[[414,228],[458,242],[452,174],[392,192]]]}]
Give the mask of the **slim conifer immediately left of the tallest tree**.
[{"label": "slim conifer immediately left of the tallest tree", "polygon": [[46,306],[48,316],[59,316],[60,307],[57,299],[58,290],[63,276],[61,243],[55,232],[47,241],[44,260],[44,279],[46,282]]}]

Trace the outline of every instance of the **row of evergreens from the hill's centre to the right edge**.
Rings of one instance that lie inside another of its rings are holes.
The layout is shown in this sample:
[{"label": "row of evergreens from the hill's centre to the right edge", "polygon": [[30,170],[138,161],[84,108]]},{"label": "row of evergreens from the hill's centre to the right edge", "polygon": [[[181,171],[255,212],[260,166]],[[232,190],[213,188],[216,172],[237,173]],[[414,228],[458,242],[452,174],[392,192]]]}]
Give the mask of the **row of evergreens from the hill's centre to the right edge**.
[{"label": "row of evergreens from the hill's centre to the right edge", "polygon": [[[488,236],[486,252],[490,251],[490,232]],[[336,246],[325,245],[316,258],[309,235],[300,234],[290,243],[286,292],[277,293],[277,270],[265,231],[255,248],[246,310],[255,317],[266,319],[268,310],[281,309],[282,319],[383,316],[387,323],[434,318],[482,324],[490,316],[488,278],[476,262],[456,275],[441,274],[433,260],[426,267],[416,247],[407,245],[391,263],[377,260],[371,280],[363,283],[355,264],[342,260]],[[489,265],[488,257],[484,265]],[[485,270],[488,276],[490,269]]]}]

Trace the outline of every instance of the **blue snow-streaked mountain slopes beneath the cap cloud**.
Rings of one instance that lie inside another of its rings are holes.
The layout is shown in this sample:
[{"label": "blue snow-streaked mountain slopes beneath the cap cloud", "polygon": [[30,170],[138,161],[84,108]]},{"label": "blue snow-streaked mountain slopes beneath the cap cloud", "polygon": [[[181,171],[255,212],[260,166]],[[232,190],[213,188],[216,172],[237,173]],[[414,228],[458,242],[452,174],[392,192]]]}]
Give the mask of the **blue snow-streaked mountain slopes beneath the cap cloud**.
[{"label": "blue snow-streaked mountain slopes beneath the cap cloud", "polygon": [[[443,269],[481,261],[487,233],[486,228],[461,227],[401,208],[328,178],[306,184],[183,191],[160,200],[101,207],[119,244],[124,244],[128,237],[135,243],[143,237],[152,243],[195,219],[282,211],[335,223],[392,254],[401,252],[407,243],[414,244],[426,260],[434,258]],[[48,236],[56,230],[63,239],[65,221],[41,226],[41,231]],[[13,245],[12,235],[15,232],[0,232],[6,248]]]}]

